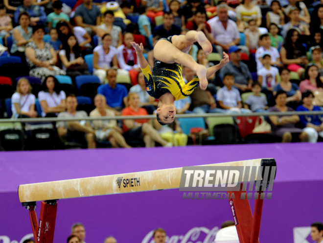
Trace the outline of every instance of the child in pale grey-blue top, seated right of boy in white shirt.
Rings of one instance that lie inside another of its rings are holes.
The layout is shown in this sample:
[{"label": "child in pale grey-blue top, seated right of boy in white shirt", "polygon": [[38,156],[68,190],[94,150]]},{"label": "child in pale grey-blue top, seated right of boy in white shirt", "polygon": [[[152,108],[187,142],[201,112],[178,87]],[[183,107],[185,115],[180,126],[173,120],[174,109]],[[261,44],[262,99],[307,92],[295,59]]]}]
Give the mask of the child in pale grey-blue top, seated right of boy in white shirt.
[{"label": "child in pale grey-blue top, seated right of boy in white shirt", "polygon": [[267,99],[260,95],[261,84],[259,82],[254,82],[252,84],[252,91],[254,94],[246,99],[245,108],[250,109],[253,112],[267,112]]}]

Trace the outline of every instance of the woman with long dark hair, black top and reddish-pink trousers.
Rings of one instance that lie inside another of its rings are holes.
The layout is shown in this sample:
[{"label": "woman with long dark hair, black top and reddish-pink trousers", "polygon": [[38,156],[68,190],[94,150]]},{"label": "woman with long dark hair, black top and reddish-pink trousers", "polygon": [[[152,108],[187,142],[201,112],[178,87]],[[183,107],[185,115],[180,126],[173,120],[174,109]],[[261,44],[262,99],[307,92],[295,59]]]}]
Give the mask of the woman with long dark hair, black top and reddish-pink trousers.
[{"label": "woman with long dark hair, black top and reddish-pink trousers", "polygon": [[300,76],[304,73],[304,67],[308,63],[306,49],[299,40],[299,32],[290,29],[286,35],[286,41],[280,49],[281,61],[292,72],[297,72]]}]

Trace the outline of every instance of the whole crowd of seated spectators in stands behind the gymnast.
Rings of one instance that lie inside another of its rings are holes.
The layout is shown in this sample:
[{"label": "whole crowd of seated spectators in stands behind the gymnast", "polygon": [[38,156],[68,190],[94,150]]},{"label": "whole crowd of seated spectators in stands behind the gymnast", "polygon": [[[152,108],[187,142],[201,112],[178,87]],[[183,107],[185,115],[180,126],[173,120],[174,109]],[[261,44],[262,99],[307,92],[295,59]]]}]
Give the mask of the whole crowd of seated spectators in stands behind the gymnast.
[{"label": "whole crowd of seated spectators in stands behind the gymnast", "polygon": [[[214,66],[223,51],[230,62],[209,77],[206,91],[196,88],[176,101],[177,113],[322,110],[320,0],[77,0],[72,5],[64,0],[4,0],[0,59],[20,60],[16,66],[2,65],[14,73],[5,84],[15,90],[10,114],[115,116],[114,121],[54,124],[61,139],[86,140],[89,148],[99,141],[130,147],[129,141],[137,138],[147,147],[156,142],[184,146],[187,135],[179,121],[165,128],[154,120],[118,121],[117,116],[155,114],[158,107],[146,91],[130,43],[143,44],[153,68],[157,41],[189,30],[204,32],[213,46],[207,56],[198,43],[193,45],[189,54],[197,63]],[[192,70],[182,69],[186,83],[195,77]],[[82,111],[84,99],[79,97],[89,97],[92,109]],[[320,116],[277,115],[267,121],[282,142],[323,138]]]}]

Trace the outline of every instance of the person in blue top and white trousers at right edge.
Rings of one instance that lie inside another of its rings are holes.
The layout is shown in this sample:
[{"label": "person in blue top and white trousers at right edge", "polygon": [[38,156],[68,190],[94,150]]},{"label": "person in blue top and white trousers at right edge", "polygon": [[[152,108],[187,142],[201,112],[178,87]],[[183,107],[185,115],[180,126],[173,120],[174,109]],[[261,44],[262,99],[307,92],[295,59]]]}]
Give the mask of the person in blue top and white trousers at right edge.
[{"label": "person in blue top and white trousers at right edge", "polygon": [[[303,104],[297,107],[296,111],[322,111],[321,107],[313,105],[314,95],[312,91],[306,90],[301,97]],[[319,136],[323,138],[323,123],[320,116],[301,115],[300,122],[304,131],[308,134],[308,142],[316,143]]]}]

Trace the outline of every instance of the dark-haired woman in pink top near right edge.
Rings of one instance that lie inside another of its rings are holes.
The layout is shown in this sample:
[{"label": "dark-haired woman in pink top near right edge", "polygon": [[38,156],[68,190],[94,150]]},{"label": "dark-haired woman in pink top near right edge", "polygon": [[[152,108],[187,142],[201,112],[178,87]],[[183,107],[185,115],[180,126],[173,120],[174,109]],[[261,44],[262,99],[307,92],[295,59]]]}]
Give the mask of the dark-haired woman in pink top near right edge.
[{"label": "dark-haired woman in pink top near right edge", "polygon": [[323,83],[319,73],[319,68],[315,63],[308,64],[305,70],[305,80],[300,82],[300,92],[305,90],[314,92],[317,88],[322,88]]}]

